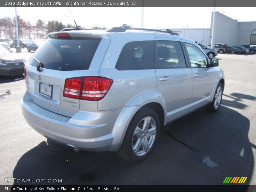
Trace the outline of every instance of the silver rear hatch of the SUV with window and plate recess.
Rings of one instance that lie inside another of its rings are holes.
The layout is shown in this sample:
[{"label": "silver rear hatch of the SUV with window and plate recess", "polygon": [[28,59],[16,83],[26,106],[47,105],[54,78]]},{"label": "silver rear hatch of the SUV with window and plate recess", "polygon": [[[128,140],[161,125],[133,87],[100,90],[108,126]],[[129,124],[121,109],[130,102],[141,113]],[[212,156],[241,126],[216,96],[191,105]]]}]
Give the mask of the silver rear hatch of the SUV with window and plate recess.
[{"label": "silver rear hatch of the SUV with window and plate recess", "polygon": [[[110,39],[84,30],[51,33],[48,37],[26,64],[27,90],[40,107],[71,117],[79,110],[80,100],[63,96],[65,80],[98,76]],[[97,104],[93,106],[97,108]]]}]

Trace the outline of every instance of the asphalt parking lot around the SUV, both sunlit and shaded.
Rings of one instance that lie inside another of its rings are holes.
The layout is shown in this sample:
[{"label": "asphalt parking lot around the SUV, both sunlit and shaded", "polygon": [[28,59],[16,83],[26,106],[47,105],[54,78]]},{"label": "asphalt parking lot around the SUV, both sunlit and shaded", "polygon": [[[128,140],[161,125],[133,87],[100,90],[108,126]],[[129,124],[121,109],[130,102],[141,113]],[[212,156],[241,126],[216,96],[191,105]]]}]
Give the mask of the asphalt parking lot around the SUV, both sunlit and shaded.
[{"label": "asphalt parking lot around the SUV, both sunlit and shaded", "polygon": [[21,114],[24,79],[0,77],[0,184],[15,177],[62,179],[42,185],[221,185],[248,177],[245,184],[256,185],[256,54],[217,58],[226,76],[219,111],[202,108],[166,125],[153,153],[136,164],[47,142]]}]

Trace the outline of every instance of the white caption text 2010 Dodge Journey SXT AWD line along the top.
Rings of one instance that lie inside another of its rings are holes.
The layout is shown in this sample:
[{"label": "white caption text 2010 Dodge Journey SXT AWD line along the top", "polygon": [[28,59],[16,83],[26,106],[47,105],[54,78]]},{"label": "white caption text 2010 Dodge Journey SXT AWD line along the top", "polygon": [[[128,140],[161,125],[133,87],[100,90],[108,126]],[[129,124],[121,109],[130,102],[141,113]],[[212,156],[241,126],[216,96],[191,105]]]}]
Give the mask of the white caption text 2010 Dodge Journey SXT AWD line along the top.
[{"label": "white caption text 2010 Dodge Journey SXT AWD line along the top", "polygon": [[20,6],[46,6],[46,5],[68,5],[68,6],[77,6],[77,5],[96,5],[96,6],[105,6],[105,5],[136,5],[136,2],[108,2],[108,1],[104,1],[104,2],[91,2],[91,1],[87,1],[87,2],[81,2],[81,1],[66,1],[66,2],[59,2],[59,1],[44,1],[44,2],[20,2],[20,1],[5,1],[4,2],[5,5],[20,5]]}]

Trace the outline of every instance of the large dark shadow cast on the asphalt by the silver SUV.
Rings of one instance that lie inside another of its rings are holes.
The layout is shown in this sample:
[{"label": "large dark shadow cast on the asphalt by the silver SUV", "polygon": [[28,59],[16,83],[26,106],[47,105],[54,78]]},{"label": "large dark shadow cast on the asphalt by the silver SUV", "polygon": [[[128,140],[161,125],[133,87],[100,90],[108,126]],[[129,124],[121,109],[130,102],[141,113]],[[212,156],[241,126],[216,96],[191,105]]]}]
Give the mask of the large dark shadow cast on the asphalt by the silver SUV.
[{"label": "large dark shadow cast on the asphalt by the silver SUV", "polygon": [[249,119],[233,109],[202,108],[167,124],[142,162],[126,162],[113,152],[76,153],[47,140],[21,156],[13,177],[45,179],[29,185],[221,185],[226,177],[248,177],[249,184],[255,147],[249,129]]}]

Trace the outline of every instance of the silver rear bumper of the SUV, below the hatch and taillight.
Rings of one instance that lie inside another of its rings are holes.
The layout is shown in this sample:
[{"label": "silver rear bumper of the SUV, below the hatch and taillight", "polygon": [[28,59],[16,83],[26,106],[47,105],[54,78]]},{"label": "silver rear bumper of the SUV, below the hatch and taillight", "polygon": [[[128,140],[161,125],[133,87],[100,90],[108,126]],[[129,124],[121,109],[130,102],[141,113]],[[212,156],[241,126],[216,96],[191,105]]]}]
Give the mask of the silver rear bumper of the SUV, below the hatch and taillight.
[{"label": "silver rear bumper of the SUV, below the hatch and taillight", "polygon": [[[108,111],[78,111],[66,117],[48,111],[30,100],[26,92],[22,101],[22,113],[28,124],[47,138],[64,145],[70,144],[82,150],[108,151],[113,141],[113,127],[123,108]],[[90,116],[90,121],[83,118]],[[104,123],[103,123],[104,122]]]}]

